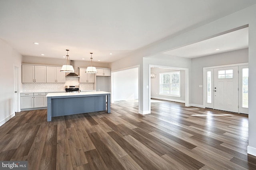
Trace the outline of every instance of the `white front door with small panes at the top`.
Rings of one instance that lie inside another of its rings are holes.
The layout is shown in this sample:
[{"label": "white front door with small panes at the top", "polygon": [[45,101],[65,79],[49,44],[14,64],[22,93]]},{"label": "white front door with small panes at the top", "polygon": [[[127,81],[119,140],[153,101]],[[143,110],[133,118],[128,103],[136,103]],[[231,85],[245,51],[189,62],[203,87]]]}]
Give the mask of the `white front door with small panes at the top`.
[{"label": "white front door with small panes at the top", "polygon": [[214,109],[238,113],[238,66],[214,68]]}]

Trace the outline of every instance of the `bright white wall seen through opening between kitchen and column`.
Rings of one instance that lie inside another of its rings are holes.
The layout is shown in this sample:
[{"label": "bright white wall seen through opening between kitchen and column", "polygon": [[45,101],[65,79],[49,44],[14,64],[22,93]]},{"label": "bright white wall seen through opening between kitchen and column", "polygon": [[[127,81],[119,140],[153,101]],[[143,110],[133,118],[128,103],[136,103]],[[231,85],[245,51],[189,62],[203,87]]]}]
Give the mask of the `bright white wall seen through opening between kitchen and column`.
[{"label": "bright white wall seen through opening between kitchen and column", "polygon": [[112,72],[112,100],[135,100],[138,99],[139,78],[138,68],[130,68]]}]

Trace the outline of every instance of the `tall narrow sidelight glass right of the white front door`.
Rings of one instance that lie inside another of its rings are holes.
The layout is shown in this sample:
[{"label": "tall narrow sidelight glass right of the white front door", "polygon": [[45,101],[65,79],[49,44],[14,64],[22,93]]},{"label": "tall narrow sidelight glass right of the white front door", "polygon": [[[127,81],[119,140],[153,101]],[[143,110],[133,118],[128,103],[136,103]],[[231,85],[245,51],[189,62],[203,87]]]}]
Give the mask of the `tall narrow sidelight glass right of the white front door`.
[{"label": "tall narrow sidelight glass right of the white front door", "polygon": [[248,68],[242,69],[242,74],[243,74],[242,107],[245,107],[245,108],[248,108],[248,73],[249,73]]}]

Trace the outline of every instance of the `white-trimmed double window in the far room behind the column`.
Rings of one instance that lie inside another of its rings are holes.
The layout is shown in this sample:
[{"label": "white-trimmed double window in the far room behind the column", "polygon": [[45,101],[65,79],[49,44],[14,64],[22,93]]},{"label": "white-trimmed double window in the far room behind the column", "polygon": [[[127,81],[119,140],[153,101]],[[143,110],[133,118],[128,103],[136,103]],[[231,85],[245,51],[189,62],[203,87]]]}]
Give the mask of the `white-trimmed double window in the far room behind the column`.
[{"label": "white-trimmed double window in the far room behind the column", "polygon": [[180,71],[159,73],[160,95],[180,97]]}]

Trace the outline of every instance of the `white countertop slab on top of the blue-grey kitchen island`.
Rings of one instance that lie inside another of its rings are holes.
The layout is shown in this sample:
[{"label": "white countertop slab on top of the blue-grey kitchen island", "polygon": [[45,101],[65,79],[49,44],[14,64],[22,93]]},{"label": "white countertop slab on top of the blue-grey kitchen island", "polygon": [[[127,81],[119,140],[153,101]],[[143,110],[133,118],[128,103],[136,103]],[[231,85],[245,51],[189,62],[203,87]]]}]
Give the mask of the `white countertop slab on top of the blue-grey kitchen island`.
[{"label": "white countertop slab on top of the blue-grey kitchen island", "polygon": [[63,93],[48,93],[46,97],[56,97],[56,96],[82,96],[82,95],[92,95],[92,94],[111,94],[110,92],[103,91],[88,91],[88,92],[63,92]]}]

